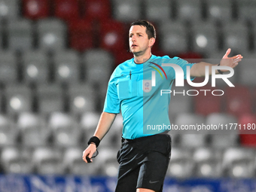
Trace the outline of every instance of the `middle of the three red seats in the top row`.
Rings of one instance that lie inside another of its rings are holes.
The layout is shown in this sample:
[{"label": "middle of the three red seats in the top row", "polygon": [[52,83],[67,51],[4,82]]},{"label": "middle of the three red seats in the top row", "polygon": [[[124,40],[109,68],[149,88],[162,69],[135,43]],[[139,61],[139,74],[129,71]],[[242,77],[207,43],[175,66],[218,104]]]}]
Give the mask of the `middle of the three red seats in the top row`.
[{"label": "middle of the three red seats in the top row", "polygon": [[78,0],[54,0],[54,15],[63,20],[78,20],[79,8]]}]

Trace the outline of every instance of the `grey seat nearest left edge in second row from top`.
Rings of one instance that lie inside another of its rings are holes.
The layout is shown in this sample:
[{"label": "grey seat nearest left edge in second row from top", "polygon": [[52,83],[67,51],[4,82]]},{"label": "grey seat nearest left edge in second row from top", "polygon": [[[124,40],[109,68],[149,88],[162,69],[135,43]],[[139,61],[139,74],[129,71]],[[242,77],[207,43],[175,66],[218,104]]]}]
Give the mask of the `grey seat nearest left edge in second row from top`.
[{"label": "grey seat nearest left edge in second row from top", "polygon": [[7,23],[6,29],[8,32],[9,50],[32,50],[34,39],[31,20],[13,20]]}]

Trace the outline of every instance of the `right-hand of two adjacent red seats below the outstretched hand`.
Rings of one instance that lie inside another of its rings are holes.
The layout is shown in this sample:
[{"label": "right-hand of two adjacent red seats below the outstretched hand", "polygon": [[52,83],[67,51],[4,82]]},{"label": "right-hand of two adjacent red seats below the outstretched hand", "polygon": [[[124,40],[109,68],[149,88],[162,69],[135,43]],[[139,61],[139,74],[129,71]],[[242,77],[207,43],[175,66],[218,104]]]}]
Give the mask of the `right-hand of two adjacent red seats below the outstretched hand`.
[{"label": "right-hand of two adjacent red seats below the outstretched hand", "polygon": [[227,87],[225,90],[226,112],[236,116],[251,114],[251,93],[248,87]]}]

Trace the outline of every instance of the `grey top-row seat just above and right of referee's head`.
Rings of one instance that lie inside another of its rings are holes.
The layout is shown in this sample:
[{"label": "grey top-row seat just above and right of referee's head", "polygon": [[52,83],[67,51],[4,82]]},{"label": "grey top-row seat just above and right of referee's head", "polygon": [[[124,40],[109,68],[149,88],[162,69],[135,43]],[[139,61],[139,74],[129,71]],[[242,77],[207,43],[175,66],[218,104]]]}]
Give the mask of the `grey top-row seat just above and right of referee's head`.
[{"label": "grey top-row seat just above and right of referee's head", "polygon": [[168,20],[172,17],[172,3],[168,0],[161,3],[154,0],[145,1],[145,17],[154,22]]}]

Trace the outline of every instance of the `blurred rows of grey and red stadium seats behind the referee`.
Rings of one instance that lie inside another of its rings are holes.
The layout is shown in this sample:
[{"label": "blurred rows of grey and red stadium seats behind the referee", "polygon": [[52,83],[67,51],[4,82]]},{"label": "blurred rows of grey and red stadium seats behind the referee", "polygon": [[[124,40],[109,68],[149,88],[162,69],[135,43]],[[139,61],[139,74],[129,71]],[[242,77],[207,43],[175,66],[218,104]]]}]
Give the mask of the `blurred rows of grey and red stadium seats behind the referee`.
[{"label": "blurred rows of grey and red stadium seats behind the referee", "polygon": [[[172,123],[255,129],[255,10],[255,0],[0,0],[0,173],[117,176],[120,115],[94,163],[82,151],[111,72],[133,57],[128,31],[138,19],[157,29],[155,55],[218,63],[230,47],[244,56],[235,87],[205,87],[224,96],[172,96]],[[254,134],[173,134],[172,147],[167,178],[256,176]]]}]

